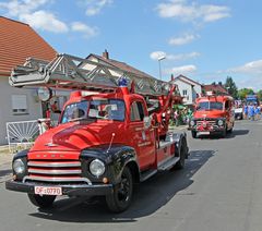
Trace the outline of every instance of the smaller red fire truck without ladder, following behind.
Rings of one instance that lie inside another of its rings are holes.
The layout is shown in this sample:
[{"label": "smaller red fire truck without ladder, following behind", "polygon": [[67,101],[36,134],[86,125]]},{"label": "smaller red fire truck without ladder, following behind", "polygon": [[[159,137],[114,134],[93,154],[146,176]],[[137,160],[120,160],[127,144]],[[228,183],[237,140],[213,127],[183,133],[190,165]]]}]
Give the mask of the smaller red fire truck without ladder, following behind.
[{"label": "smaller red fire truck without ladder, following behind", "polygon": [[189,123],[192,137],[196,135],[219,134],[223,137],[233,131],[235,123],[234,99],[207,92],[195,102],[193,118]]}]

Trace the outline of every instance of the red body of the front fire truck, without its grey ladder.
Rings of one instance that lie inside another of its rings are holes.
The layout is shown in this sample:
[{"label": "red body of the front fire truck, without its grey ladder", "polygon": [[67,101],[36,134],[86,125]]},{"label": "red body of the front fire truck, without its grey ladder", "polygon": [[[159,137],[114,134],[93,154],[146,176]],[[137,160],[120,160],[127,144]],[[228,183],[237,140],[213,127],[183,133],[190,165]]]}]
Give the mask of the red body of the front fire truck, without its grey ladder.
[{"label": "red body of the front fire truck, without its grey ladder", "polygon": [[5,187],[27,193],[38,207],[51,206],[59,195],[105,196],[110,210],[126,210],[134,183],[183,168],[186,133],[168,132],[172,105],[180,100],[175,90],[170,85],[165,96],[143,96],[128,86],[71,93],[59,124],[15,155]]}]

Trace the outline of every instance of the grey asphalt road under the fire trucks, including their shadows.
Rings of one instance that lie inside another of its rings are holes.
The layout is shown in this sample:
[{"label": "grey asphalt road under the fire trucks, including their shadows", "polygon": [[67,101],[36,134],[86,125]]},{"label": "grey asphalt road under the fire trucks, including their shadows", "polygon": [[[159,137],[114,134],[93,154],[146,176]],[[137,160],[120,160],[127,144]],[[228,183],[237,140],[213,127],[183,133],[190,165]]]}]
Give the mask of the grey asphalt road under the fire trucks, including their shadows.
[{"label": "grey asphalt road under the fire trucks, including their shadows", "polygon": [[0,230],[261,231],[262,121],[238,121],[224,139],[189,134],[188,142],[186,168],[141,184],[120,215],[108,212],[102,202],[73,198],[38,210],[25,194],[0,183]]}]

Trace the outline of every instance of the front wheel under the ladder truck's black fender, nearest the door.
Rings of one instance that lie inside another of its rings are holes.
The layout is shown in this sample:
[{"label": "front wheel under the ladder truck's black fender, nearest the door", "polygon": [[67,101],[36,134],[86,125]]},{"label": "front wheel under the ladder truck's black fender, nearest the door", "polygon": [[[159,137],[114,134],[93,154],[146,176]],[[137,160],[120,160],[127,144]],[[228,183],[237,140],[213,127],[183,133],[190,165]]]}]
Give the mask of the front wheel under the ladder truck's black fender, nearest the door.
[{"label": "front wheel under the ladder truck's black fender, nearest the door", "polygon": [[109,210],[124,211],[131,204],[133,195],[133,178],[128,167],[122,171],[121,182],[115,186],[112,194],[106,196]]}]

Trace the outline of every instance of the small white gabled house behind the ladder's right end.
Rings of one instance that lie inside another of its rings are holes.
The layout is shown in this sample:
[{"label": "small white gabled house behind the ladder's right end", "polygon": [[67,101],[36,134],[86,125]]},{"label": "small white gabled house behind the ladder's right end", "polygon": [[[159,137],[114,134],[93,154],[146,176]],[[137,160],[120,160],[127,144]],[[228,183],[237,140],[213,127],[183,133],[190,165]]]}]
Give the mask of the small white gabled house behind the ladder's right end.
[{"label": "small white gabled house behind the ladder's right end", "polygon": [[177,77],[171,76],[170,82],[178,85],[184,105],[192,106],[195,98],[202,93],[202,85],[184,75],[179,75]]}]

